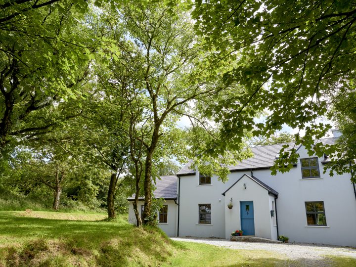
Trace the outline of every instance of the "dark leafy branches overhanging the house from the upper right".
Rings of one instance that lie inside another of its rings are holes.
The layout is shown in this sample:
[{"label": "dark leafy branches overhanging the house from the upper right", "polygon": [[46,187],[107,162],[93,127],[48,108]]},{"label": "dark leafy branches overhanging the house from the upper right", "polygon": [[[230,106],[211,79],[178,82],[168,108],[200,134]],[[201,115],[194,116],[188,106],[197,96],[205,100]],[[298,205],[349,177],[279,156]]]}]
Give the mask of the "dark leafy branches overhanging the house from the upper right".
[{"label": "dark leafy branches overhanging the house from the upper right", "polygon": [[[354,107],[342,100],[355,90],[352,1],[198,0],[192,16],[205,48],[219,51],[212,62],[236,61],[237,66],[224,74],[226,84],[243,87],[241,95],[210,107],[224,136],[212,146],[229,149],[245,130],[268,137],[286,124],[305,130],[304,137],[297,134],[296,143],[306,145],[310,154],[337,151],[337,145],[314,145],[331,128],[315,121],[328,115],[332,105]],[[266,123],[256,123],[256,112],[266,110]],[[329,116],[338,122],[338,117]],[[294,149],[286,153],[280,166],[291,166],[298,157]]]}]

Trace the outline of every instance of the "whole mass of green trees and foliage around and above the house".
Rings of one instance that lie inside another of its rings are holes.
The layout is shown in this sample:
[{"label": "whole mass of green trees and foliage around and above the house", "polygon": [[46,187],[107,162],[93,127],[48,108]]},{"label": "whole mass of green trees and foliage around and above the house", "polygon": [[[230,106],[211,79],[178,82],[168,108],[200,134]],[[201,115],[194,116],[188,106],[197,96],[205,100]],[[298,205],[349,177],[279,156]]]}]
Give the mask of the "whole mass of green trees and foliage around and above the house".
[{"label": "whole mass of green trees and foliage around and above the house", "polygon": [[355,25],[347,0],[0,0],[0,209],[114,218],[135,193],[154,223],[152,181],[188,158],[225,181],[251,145],[356,172]]}]

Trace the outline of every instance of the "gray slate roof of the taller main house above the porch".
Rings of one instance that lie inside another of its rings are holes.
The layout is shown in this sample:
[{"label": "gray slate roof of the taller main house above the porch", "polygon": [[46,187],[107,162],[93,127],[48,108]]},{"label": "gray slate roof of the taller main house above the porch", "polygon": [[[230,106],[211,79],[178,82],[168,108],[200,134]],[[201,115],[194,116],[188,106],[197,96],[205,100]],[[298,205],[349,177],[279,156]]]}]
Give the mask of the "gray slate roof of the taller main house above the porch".
[{"label": "gray slate roof of the taller main house above the porch", "polygon": [[[329,137],[320,139],[323,144],[334,144],[337,138]],[[282,146],[288,144],[290,148],[294,147],[294,142],[266,145],[266,146],[255,146],[251,150],[253,152],[253,157],[245,159],[240,162],[237,166],[228,166],[230,171],[248,170],[248,169],[263,169],[270,168],[273,166],[276,155],[282,149]],[[295,147],[299,148],[299,147]],[[178,176],[194,175],[195,170],[191,169],[193,161],[190,160],[187,164],[183,166],[182,169],[177,173]]]}]

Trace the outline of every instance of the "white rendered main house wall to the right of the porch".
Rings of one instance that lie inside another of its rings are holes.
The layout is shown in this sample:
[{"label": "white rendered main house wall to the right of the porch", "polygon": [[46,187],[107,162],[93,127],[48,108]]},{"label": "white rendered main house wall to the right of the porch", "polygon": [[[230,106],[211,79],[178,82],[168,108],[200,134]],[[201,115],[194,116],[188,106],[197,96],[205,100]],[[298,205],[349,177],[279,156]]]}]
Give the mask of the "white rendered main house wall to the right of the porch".
[{"label": "white rendered main house wall to the right of the porch", "polygon": [[[303,147],[298,153],[301,158],[310,158]],[[351,175],[323,174],[322,160],[319,158],[320,178],[302,179],[300,161],[286,174],[271,176],[269,170],[255,170],[253,174],[279,193],[279,235],[288,236],[289,242],[356,246],[356,199]],[[324,202],[326,227],[307,225],[306,201]]]}]

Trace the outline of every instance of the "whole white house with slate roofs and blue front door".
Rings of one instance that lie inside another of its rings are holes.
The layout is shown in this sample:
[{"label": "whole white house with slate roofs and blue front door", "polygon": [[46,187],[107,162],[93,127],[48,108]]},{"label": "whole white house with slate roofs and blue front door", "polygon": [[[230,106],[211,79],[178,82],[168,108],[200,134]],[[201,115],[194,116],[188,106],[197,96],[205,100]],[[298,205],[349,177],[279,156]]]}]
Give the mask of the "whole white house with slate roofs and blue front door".
[{"label": "whole white house with slate roofs and blue front door", "polygon": [[[335,138],[322,142],[334,143]],[[229,166],[225,183],[200,175],[190,168],[191,162],[177,176],[162,177],[154,192],[166,200],[159,211],[159,227],[169,236],[229,238],[232,231],[242,229],[244,235],[273,240],[285,235],[289,242],[356,246],[356,189],[351,175],[323,174],[328,158],[308,156],[301,146],[292,170],[271,176],[269,168],[282,145],[252,148],[253,158]],[[129,220],[135,223],[133,205]]]}]

